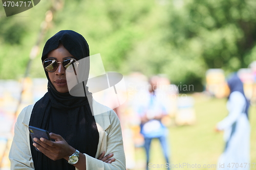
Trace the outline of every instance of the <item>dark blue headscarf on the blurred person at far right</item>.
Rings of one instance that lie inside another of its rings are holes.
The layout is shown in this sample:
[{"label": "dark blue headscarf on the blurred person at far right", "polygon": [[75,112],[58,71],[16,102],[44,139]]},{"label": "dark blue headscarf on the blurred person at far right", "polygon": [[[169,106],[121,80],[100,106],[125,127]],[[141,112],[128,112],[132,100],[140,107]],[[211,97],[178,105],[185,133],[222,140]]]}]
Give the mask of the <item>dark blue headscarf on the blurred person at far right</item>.
[{"label": "dark blue headscarf on the blurred person at far right", "polygon": [[[244,87],[243,87],[242,81],[239,79],[237,74],[233,74],[232,76],[230,76],[227,83],[228,83],[228,86],[229,86],[229,89],[230,89],[230,94],[234,91],[239,91],[244,95],[244,99],[246,101],[245,114],[248,118],[248,109],[249,109],[250,103],[247,100],[247,98],[245,97]],[[230,96],[230,94],[229,94],[229,96]],[[228,98],[229,98],[229,96],[228,96]]]}]

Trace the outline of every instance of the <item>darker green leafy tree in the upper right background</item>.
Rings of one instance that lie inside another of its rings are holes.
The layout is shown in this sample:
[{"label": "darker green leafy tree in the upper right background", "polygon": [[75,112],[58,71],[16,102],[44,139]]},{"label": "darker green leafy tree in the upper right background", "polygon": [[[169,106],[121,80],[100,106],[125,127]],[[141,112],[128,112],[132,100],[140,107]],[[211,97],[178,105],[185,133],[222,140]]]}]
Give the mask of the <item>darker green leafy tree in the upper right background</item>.
[{"label": "darker green leafy tree in the upper right background", "polygon": [[255,1],[194,0],[184,1],[180,8],[177,2],[170,7],[169,25],[175,32],[168,36],[170,44],[185,48],[196,39],[199,53],[195,55],[208,68],[234,71],[248,66],[251,61],[244,58],[256,39]]}]

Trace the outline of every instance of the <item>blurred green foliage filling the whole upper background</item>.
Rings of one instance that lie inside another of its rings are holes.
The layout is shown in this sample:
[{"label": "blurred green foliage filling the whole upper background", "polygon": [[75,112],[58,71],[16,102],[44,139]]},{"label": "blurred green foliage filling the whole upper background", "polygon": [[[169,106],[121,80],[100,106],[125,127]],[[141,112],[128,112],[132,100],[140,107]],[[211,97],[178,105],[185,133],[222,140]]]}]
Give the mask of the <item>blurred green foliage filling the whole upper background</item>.
[{"label": "blurred green foliage filling the whole upper background", "polygon": [[[25,72],[50,3],[0,18],[0,59],[19,58],[12,67],[0,63],[0,79]],[[201,91],[208,68],[228,73],[256,59],[255,15],[254,0],[65,1],[40,47],[58,31],[74,30],[87,39],[91,55],[101,54],[107,71],[165,74]],[[32,63],[33,77],[44,76],[39,58]]]}]

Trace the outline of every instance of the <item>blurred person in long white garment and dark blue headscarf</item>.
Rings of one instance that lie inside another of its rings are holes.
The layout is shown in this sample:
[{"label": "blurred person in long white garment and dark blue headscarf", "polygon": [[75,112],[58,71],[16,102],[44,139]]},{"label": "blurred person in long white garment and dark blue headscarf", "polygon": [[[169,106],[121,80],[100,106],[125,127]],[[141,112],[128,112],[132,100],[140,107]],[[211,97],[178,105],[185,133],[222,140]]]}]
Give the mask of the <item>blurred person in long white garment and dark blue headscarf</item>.
[{"label": "blurred person in long white garment and dark blue headscarf", "polygon": [[224,131],[225,148],[219,158],[217,169],[250,169],[250,124],[249,102],[244,95],[243,83],[234,74],[228,80],[230,94],[227,109],[229,114],[216,126]]}]

